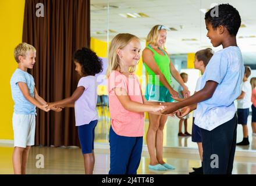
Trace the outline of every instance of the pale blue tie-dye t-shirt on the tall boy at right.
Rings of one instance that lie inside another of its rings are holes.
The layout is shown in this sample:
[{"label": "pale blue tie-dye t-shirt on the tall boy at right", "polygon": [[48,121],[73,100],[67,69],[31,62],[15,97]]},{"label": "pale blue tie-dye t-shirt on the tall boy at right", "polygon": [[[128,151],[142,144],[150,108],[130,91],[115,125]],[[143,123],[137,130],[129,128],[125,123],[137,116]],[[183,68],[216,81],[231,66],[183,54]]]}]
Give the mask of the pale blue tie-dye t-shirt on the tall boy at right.
[{"label": "pale blue tie-dye t-shirt on the tall boy at right", "polygon": [[202,76],[201,89],[209,80],[218,86],[212,98],[197,104],[195,124],[198,127],[211,131],[234,117],[234,100],[240,95],[243,77],[244,63],[239,47],[227,47],[212,56]]}]

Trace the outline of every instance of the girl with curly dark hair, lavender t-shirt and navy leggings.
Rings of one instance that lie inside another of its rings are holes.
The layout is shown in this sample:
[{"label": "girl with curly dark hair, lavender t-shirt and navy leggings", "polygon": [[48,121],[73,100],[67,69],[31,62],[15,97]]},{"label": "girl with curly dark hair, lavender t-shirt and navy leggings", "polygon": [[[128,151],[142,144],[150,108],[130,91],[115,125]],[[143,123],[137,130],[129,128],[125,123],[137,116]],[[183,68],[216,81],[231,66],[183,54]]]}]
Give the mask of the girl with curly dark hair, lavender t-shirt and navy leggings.
[{"label": "girl with curly dark hair, lavender t-shirt and navy leggings", "polygon": [[88,48],[77,50],[73,55],[76,71],[81,76],[76,90],[69,98],[48,103],[48,108],[74,107],[79,141],[84,156],[86,174],[94,169],[94,129],[98,123],[97,81],[95,74],[102,71],[102,60]]}]

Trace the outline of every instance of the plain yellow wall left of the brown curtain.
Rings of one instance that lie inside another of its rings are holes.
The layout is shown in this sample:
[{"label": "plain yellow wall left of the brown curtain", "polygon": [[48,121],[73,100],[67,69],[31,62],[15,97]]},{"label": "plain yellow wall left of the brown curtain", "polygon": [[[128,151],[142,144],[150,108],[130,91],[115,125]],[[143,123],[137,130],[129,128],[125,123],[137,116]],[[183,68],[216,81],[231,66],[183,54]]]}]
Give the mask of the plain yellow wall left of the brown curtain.
[{"label": "plain yellow wall left of the brown curtain", "polygon": [[0,1],[0,139],[13,140],[13,101],[10,92],[10,77],[17,67],[13,49],[22,42],[25,0]]}]

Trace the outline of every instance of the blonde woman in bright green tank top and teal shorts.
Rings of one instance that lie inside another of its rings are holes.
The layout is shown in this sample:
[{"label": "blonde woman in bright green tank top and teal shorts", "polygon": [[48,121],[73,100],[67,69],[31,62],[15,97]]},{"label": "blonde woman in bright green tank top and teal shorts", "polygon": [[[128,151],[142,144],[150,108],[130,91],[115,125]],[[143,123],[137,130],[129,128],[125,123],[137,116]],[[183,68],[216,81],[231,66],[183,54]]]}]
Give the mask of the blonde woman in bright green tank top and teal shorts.
[{"label": "blonde woman in bright green tank top and teal shorts", "polygon": [[[184,84],[179,71],[175,69],[168,53],[165,51],[166,35],[169,28],[163,25],[154,26],[147,36],[147,47],[143,51],[143,63],[148,73],[148,84],[145,97],[147,101],[173,102],[178,93],[171,87],[170,74],[182,85],[184,97],[190,92]],[[150,126],[147,132],[148,152],[150,153],[149,169],[168,170],[175,169],[163,162],[163,127],[167,116],[157,116],[148,113]]]}]

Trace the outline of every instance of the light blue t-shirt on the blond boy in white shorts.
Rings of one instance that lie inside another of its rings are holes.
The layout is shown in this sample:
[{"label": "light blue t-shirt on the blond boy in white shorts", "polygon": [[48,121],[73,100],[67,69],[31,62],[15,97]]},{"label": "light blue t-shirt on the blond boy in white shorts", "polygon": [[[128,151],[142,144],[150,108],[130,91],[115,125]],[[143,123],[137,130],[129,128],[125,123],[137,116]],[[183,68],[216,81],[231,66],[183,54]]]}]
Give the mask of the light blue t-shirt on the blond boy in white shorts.
[{"label": "light blue t-shirt on the blond boy in white shorts", "polygon": [[17,115],[35,115],[35,106],[30,103],[20,91],[17,83],[23,82],[27,84],[30,95],[34,98],[34,78],[26,71],[16,69],[10,78],[10,88],[12,90],[12,99],[15,103],[14,112]]}]

